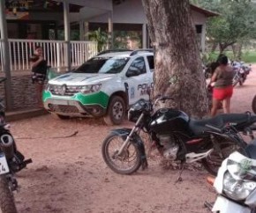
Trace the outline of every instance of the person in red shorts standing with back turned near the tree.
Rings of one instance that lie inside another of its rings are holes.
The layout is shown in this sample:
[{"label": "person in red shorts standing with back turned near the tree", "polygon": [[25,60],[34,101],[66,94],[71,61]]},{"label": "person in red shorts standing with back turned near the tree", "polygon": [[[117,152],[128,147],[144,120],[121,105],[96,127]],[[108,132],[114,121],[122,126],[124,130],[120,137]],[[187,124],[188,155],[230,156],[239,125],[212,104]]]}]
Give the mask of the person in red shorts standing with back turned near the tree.
[{"label": "person in red shorts standing with back turned near the tree", "polygon": [[210,81],[210,84],[215,83],[211,116],[215,116],[221,101],[224,114],[230,114],[230,99],[233,94],[232,83],[235,73],[229,65],[229,59],[226,55],[222,55],[219,57],[218,62],[219,66],[215,69]]}]

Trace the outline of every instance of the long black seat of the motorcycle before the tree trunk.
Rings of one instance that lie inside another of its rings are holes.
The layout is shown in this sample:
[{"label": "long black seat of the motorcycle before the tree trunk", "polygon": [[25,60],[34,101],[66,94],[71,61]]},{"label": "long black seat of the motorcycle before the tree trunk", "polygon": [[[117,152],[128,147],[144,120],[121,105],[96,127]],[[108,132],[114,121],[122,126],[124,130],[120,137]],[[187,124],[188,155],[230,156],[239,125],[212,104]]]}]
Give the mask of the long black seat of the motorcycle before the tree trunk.
[{"label": "long black seat of the motorcycle before the tree trunk", "polygon": [[241,127],[245,128],[246,123],[252,123],[254,121],[256,121],[256,117],[250,114],[219,114],[210,119],[191,119],[189,121],[189,128],[192,130],[192,133],[197,136],[207,131],[214,131],[206,127],[207,124],[219,129],[222,129],[226,125],[232,125],[237,128],[238,131],[242,131],[244,129],[240,129]]}]

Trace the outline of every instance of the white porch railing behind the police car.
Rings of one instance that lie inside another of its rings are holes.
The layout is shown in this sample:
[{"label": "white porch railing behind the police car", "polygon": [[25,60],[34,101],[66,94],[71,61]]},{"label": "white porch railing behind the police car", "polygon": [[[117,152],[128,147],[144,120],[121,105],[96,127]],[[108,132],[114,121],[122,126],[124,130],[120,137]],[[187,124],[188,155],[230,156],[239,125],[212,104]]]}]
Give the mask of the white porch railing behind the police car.
[{"label": "white porch railing behind the police car", "polygon": [[[30,57],[34,54],[34,48],[40,46],[48,65],[56,70],[66,70],[67,43],[63,40],[9,40],[11,71],[30,70]],[[71,65],[78,67],[90,57],[97,54],[95,41],[71,41]],[[0,71],[3,67],[3,41],[0,41]]]}]

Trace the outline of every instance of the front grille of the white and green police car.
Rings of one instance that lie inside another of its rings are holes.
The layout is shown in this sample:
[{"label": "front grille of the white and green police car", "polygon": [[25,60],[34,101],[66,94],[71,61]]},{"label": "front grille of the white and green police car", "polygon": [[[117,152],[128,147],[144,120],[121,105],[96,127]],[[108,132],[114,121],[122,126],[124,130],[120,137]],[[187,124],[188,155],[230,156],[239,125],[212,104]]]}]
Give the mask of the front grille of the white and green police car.
[{"label": "front grille of the white and green police car", "polygon": [[77,92],[80,92],[80,86],[76,85],[49,85],[49,92],[54,95],[61,95],[61,96],[72,96]]}]

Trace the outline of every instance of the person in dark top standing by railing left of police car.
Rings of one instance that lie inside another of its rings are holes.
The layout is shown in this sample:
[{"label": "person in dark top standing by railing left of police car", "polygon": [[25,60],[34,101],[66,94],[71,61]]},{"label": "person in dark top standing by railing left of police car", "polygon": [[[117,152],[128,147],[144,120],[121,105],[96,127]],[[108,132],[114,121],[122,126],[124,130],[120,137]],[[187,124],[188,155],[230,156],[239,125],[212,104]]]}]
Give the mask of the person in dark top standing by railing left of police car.
[{"label": "person in dark top standing by railing left of police car", "polygon": [[43,84],[47,74],[47,61],[43,58],[42,48],[36,47],[34,49],[34,55],[30,58],[31,66],[32,66],[32,82],[36,87],[36,98],[39,107],[43,107],[42,105],[42,90]]}]

